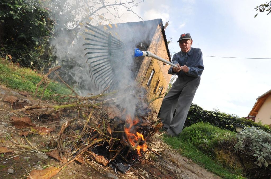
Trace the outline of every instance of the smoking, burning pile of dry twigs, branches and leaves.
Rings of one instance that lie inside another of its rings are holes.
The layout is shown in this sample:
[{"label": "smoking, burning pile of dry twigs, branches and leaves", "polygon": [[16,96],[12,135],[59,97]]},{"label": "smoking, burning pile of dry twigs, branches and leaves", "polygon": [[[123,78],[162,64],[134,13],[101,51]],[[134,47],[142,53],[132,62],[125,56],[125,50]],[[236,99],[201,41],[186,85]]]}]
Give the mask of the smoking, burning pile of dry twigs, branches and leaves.
[{"label": "smoking, burning pile of dry twigs, branches and leaves", "polygon": [[[63,105],[25,106],[14,112],[38,110],[39,119],[55,113],[60,116],[72,116],[73,113],[73,119],[64,123],[57,138],[48,143],[50,149],[46,154],[51,156],[54,153],[57,156],[54,158],[65,163],[58,168],[49,167],[47,170],[54,171],[50,174],[58,173],[74,160],[80,163],[96,161],[112,167],[116,173],[126,173],[130,166],[149,160],[146,153],[159,156],[151,149],[150,141],[162,123],[155,120],[142,91],[137,87],[133,93],[127,90],[121,95],[114,91],[90,97],[69,96],[71,101]],[[134,113],[124,107],[129,99],[136,101],[131,102]],[[35,172],[39,171],[31,171],[31,177],[36,175]]]}]

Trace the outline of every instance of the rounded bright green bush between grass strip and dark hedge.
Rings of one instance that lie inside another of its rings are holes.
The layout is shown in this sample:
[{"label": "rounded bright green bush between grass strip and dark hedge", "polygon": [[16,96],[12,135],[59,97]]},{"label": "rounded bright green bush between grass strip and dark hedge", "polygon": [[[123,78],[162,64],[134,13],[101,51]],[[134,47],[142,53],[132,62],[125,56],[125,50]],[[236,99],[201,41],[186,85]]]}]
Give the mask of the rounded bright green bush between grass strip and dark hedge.
[{"label": "rounded bright green bush between grass strip and dark hedge", "polygon": [[183,129],[181,136],[205,153],[212,153],[219,143],[232,139],[236,133],[199,122]]}]

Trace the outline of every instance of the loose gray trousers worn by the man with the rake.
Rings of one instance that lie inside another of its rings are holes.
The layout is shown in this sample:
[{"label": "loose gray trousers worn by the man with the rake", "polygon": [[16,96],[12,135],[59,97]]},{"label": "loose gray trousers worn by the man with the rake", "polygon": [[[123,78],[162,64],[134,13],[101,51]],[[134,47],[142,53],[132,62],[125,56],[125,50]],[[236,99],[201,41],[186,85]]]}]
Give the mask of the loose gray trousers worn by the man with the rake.
[{"label": "loose gray trousers worn by the man with the rake", "polygon": [[[164,124],[163,127],[172,136],[182,132],[200,81],[201,77],[178,77],[169,93],[164,97],[160,109],[160,118]],[[175,109],[176,113],[173,117]]]}]

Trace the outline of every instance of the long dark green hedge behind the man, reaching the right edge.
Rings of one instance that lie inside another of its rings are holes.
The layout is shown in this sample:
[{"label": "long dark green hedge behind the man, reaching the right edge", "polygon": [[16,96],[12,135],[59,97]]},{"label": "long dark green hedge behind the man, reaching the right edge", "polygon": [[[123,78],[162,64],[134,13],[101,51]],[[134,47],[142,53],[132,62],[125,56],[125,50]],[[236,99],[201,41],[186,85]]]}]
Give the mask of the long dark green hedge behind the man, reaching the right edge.
[{"label": "long dark green hedge behind the man, reaching the right edge", "polygon": [[184,126],[191,126],[192,124],[201,121],[208,122],[214,126],[231,131],[235,130],[234,126],[236,124],[241,124],[244,127],[260,127],[262,130],[271,133],[271,129],[268,125],[263,125],[262,123],[255,123],[252,120],[239,118],[236,115],[226,114],[220,111],[204,110],[202,107],[196,104],[192,104],[189,109]]}]

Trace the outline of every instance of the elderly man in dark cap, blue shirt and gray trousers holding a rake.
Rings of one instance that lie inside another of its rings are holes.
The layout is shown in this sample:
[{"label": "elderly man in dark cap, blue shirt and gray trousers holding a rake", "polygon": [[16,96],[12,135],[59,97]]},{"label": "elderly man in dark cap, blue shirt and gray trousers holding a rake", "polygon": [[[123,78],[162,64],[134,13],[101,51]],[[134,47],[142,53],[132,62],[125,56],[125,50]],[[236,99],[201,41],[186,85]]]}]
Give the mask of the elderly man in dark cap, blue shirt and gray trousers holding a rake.
[{"label": "elderly man in dark cap, blue shirt and gray trousers holding a rake", "polygon": [[178,75],[178,78],[164,97],[160,110],[163,127],[170,136],[177,136],[182,132],[204,70],[201,49],[191,47],[193,40],[190,34],[182,34],[177,42],[181,51],[173,55],[172,63],[178,67],[170,67],[168,73]]}]

